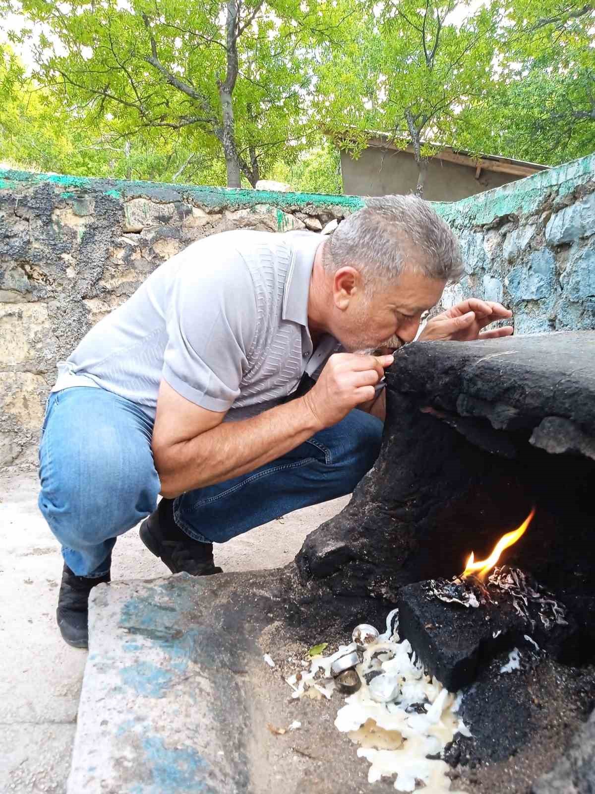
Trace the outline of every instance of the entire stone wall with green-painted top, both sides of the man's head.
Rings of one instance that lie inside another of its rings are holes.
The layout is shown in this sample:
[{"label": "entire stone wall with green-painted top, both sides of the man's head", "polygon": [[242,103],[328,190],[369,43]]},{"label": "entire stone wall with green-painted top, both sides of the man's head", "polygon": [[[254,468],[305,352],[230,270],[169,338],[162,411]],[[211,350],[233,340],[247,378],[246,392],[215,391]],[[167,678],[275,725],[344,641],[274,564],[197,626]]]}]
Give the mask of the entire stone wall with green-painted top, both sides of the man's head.
[{"label": "entire stone wall with green-painted top, both sides of the man's head", "polygon": [[[595,328],[595,157],[436,210],[458,231],[466,295],[504,300],[516,330]],[[84,333],[159,264],[227,229],[313,229],[363,198],[0,170],[0,466],[35,460],[44,402]]]}]

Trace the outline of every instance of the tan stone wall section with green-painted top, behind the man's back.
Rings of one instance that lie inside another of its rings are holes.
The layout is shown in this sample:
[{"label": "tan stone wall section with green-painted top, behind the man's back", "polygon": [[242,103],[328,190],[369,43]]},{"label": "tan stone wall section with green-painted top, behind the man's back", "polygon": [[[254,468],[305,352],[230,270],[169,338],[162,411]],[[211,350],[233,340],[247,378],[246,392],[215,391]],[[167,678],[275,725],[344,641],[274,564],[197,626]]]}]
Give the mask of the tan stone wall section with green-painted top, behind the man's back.
[{"label": "tan stone wall section with green-painted top, behind the man's back", "polygon": [[361,206],[0,170],[0,466],[35,461],[56,361],[163,261],[208,234],[321,231]]}]

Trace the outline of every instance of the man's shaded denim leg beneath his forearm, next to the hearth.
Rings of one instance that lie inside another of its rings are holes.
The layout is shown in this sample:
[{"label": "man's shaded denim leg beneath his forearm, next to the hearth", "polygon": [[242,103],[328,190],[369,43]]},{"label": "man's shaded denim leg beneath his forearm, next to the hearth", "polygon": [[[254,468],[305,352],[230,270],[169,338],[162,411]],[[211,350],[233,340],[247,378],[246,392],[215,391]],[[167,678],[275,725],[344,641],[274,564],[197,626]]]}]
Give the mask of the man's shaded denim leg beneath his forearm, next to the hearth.
[{"label": "man's shaded denim leg beneath his forearm, next to the hearth", "polygon": [[381,441],[380,419],[352,410],[254,472],[178,496],[175,522],[195,540],[223,543],[299,507],[351,493],[374,465]]}]

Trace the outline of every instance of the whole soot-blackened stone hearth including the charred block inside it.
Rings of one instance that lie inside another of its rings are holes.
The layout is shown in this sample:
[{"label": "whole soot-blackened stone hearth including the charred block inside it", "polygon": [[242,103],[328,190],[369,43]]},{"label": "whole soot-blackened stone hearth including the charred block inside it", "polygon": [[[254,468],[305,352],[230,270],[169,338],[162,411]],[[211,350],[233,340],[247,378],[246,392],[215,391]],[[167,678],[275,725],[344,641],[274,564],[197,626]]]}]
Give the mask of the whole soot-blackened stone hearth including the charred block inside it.
[{"label": "whole soot-blackened stone hearth including the charred block inside it", "polygon": [[[378,461],[344,511],[306,539],[298,568],[336,595],[398,604],[401,638],[447,688],[463,688],[473,738],[455,739],[455,765],[516,754],[526,763],[567,703],[578,698],[585,715],[593,707],[595,333],[409,345],[387,381]],[[502,554],[506,567],[489,580],[512,569],[506,592],[488,584],[478,609],[461,601],[470,580],[434,595],[470,552],[488,557],[532,508],[528,529]],[[524,576],[534,577],[533,603]],[[533,619],[513,625],[526,608]],[[501,674],[512,669],[523,672]],[[592,738],[576,739],[577,748],[582,771],[571,774],[566,758],[556,774],[580,780],[560,790],[590,792]],[[559,790],[550,785],[535,791]]]}]

